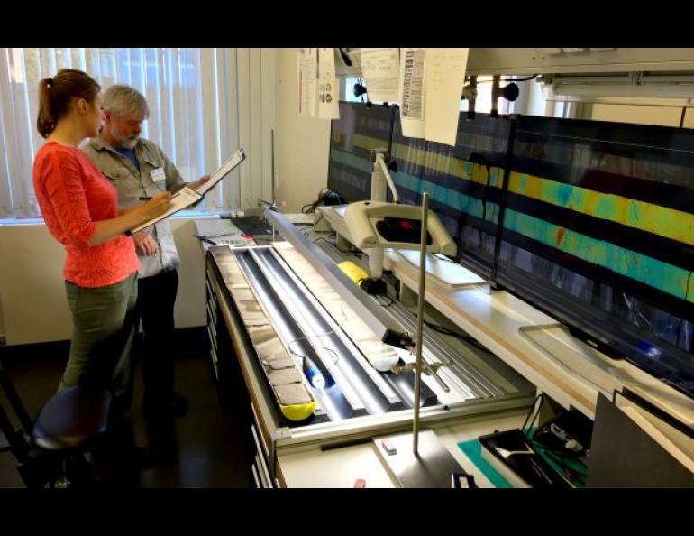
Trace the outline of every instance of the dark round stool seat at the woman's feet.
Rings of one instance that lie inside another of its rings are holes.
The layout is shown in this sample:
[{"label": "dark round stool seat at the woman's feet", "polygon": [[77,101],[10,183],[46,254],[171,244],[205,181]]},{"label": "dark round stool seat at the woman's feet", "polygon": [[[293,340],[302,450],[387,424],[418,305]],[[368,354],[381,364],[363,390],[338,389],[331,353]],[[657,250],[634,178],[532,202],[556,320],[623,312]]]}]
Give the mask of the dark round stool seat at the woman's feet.
[{"label": "dark round stool seat at the woman's feet", "polygon": [[32,439],[44,450],[79,448],[106,430],[111,393],[80,385],[54,394],[34,422]]}]

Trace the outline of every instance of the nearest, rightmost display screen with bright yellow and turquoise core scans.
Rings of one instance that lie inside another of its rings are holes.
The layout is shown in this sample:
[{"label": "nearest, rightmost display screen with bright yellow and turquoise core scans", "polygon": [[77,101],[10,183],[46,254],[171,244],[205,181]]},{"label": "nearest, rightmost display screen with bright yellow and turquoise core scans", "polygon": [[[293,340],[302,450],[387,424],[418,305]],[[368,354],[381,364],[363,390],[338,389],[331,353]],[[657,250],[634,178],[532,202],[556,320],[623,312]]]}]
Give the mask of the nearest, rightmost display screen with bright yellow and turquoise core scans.
[{"label": "nearest, rightmost display screen with bright yellow and turquoise core scans", "polygon": [[520,116],[498,282],[694,396],[694,132]]}]

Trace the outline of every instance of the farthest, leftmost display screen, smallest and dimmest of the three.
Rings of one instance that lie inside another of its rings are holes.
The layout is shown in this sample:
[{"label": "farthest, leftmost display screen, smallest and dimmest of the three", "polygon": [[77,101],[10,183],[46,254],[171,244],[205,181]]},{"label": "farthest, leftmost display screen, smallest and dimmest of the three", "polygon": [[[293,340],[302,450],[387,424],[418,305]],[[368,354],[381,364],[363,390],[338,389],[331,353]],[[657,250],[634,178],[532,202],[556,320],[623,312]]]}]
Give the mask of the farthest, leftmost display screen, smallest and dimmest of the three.
[{"label": "farthest, leftmost display screen, smallest and dimmest of the three", "polygon": [[392,106],[340,103],[330,128],[328,188],[348,203],[371,199],[371,151],[388,151],[392,121]]}]

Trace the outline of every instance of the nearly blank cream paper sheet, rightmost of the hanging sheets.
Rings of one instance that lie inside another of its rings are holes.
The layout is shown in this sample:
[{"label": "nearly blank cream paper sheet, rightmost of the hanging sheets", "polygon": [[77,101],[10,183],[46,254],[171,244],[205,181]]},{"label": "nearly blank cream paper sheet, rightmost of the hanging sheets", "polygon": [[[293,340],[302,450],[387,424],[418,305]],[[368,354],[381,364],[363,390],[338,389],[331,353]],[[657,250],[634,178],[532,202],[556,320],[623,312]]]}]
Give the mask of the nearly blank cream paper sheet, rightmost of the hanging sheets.
[{"label": "nearly blank cream paper sheet, rightmost of the hanging sheets", "polygon": [[425,139],[455,145],[468,49],[426,49]]}]

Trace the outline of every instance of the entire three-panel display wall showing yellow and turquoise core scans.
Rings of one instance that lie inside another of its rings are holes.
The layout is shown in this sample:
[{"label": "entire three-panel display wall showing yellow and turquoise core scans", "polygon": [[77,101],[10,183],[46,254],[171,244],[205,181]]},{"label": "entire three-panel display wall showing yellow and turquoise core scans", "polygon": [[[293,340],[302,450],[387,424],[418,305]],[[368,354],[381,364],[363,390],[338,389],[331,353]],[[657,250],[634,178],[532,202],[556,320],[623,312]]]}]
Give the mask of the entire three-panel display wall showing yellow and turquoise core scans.
[{"label": "entire three-panel display wall showing yellow and turquoise core scans", "polygon": [[330,188],[370,199],[388,148],[400,201],[429,193],[455,260],[694,397],[694,131],[461,114],[452,147],[404,136],[397,106],[340,113]]}]

